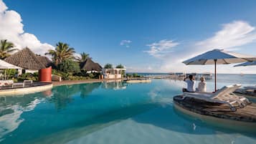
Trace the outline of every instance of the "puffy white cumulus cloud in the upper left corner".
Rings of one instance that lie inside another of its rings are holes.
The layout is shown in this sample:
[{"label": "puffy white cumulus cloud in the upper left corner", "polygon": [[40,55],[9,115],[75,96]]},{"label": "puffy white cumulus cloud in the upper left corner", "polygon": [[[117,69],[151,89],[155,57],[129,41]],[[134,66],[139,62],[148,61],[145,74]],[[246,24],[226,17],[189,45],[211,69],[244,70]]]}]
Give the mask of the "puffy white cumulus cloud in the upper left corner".
[{"label": "puffy white cumulus cloud in the upper left corner", "polygon": [[48,49],[54,49],[51,44],[42,43],[34,34],[24,32],[22,17],[0,0],[0,39],[7,39],[13,42],[15,47],[22,49],[29,47],[33,52],[44,55]]}]

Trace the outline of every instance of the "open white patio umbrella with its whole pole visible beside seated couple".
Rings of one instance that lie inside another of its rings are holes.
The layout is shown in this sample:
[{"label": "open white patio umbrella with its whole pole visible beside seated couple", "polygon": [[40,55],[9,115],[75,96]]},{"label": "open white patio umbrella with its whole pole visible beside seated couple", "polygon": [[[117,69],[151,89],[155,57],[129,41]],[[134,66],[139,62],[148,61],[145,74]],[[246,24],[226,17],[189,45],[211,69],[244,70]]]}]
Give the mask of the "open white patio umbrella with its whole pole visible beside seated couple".
[{"label": "open white patio umbrella with its whole pole visible beside seated couple", "polygon": [[255,56],[250,56],[247,54],[238,54],[235,52],[227,52],[223,49],[213,49],[212,51],[205,52],[204,54],[200,54],[194,58],[188,59],[183,63],[186,65],[189,64],[214,64],[215,70],[215,92],[217,90],[217,64],[232,64],[232,63],[240,63],[240,62],[252,62],[256,61]]}]

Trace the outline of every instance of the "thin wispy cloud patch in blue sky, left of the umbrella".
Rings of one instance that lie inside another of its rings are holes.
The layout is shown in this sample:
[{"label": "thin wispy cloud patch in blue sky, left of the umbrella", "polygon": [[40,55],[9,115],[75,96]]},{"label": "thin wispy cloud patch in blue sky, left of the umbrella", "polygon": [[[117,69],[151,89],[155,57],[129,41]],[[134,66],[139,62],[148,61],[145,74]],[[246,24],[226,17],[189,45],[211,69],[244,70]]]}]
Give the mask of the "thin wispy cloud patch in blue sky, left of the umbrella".
[{"label": "thin wispy cloud patch in blue sky, left of the umbrella", "polygon": [[147,46],[150,47],[150,50],[144,52],[147,52],[148,54],[156,58],[163,58],[166,56],[166,54],[173,52],[173,50],[171,49],[173,47],[176,47],[177,45],[179,45],[178,42],[163,39],[159,42],[154,42],[153,44],[147,44]]}]

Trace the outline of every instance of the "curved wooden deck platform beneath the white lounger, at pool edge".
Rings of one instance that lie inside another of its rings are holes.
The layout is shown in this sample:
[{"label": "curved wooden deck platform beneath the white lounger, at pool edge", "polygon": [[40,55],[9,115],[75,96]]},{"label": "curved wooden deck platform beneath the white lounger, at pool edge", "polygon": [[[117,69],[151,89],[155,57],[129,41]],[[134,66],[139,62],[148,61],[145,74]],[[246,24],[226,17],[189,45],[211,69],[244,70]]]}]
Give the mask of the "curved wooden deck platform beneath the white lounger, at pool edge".
[{"label": "curved wooden deck platform beneath the white lounger, at pool edge", "polygon": [[252,103],[243,108],[237,106],[237,110],[235,112],[230,110],[228,105],[195,100],[190,97],[182,99],[181,96],[175,96],[174,103],[179,105],[179,107],[182,107],[184,110],[188,110],[199,115],[207,115],[220,119],[235,120],[246,123],[256,123],[256,103]]}]

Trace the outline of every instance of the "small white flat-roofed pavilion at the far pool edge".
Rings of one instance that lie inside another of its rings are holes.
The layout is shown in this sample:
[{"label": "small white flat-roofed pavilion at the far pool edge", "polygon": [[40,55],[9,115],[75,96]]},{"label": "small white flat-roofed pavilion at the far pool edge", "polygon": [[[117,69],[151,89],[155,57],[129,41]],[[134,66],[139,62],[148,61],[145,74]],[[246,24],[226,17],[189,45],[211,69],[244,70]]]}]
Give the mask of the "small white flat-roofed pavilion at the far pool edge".
[{"label": "small white flat-roofed pavilion at the far pool edge", "polygon": [[111,69],[103,69],[103,75],[105,79],[120,79],[122,78],[122,72],[126,69],[119,68],[111,68]]}]

